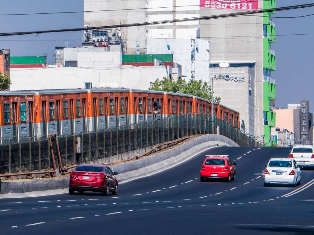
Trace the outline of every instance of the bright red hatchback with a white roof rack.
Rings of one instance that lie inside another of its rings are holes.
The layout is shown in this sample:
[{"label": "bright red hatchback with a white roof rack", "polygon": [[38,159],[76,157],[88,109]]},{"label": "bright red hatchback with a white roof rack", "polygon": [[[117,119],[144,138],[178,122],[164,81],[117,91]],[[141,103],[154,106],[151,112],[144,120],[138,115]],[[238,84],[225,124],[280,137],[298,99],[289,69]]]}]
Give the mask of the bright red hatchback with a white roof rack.
[{"label": "bright red hatchback with a white roof rack", "polygon": [[236,163],[224,155],[210,155],[201,168],[201,181],[205,179],[226,179],[228,182],[236,179]]}]

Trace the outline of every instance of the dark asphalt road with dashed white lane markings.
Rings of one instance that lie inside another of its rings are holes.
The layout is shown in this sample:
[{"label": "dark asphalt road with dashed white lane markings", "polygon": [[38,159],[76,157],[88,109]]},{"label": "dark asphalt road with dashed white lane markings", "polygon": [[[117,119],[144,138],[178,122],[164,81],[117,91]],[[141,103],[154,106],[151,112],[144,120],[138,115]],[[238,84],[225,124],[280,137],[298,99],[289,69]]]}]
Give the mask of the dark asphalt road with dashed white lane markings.
[{"label": "dark asphalt road with dashed white lane markings", "polygon": [[[0,234],[314,234],[314,171],[302,170],[296,188],[263,187],[269,158],[288,150],[213,148],[120,184],[118,195],[1,199]],[[200,182],[207,154],[236,161],[236,180]]]}]

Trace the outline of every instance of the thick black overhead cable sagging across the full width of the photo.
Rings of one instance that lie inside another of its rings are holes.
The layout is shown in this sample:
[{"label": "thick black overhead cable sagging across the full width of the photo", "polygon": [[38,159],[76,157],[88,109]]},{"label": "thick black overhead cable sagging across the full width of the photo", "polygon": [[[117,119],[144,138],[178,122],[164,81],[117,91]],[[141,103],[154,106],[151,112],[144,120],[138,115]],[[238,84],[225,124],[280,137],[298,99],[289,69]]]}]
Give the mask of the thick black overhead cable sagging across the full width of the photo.
[{"label": "thick black overhead cable sagging across the full width of the photo", "polygon": [[133,24],[115,24],[115,25],[97,26],[97,27],[89,27],[89,28],[72,28],[72,29],[55,29],[55,30],[0,33],[0,36],[14,36],[14,35],[28,35],[28,34],[41,34],[41,33],[56,33],[56,32],[73,32],[73,31],[82,31],[82,30],[86,30],[86,29],[99,30],[99,29],[111,29],[111,28],[118,28],[118,27],[123,28],[123,27],[145,26],[145,25],[154,25],[154,24],[168,24],[168,23],[185,22],[185,21],[192,21],[192,20],[221,19],[221,18],[228,18],[228,17],[251,15],[251,14],[256,14],[256,13],[285,11],[285,10],[309,8],[309,7],[314,7],[314,3],[295,5],[295,6],[287,6],[287,7],[279,7],[279,8],[271,8],[271,9],[265,9],[265,10],[261,9],[261,10],[252,10],[252,11],[244,11],[244,12],[236,12],[236,13],[220,14],[220,15],[212,15],[212,16],[192,17],[192,18],[183,18],[183,19],[171,19],[171,20],[160,20],[160,21],[153,21],[153,22],[133,23]]}]

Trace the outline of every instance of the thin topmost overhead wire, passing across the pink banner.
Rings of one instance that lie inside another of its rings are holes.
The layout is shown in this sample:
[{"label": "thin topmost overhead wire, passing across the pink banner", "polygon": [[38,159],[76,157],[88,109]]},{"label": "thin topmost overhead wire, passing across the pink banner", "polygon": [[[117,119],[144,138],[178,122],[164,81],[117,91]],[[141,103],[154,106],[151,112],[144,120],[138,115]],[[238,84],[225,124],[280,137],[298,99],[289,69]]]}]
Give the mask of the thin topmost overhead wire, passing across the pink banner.
[{"label": "thin topmost overhead wire, passing across the pink banner", "polygon": [[[254,0],[254,2],[266,2],[272,0]],[[216,5],[221,5],[223,3],[215,3]],[[92,12],[114,12],[114,11],[132,11],[132,10],[151,10],[151,9],[161,9],[161,8],[180,8],[180,7],[198,7],[205,6],[208,4],[198,4],[198,5],[183,5],[183,6],[171,6],[171,7],[152,7],[152,8],[126,8],[126,9],[112,9],[112,10],[95,10],[95,11],[64,11],[64,12],[42,12],[42,13],[12,13],[12,14],[0,14],[0,16],[12,16],[12,15],[47,15],[47,14],[67,14],[67,13],[92,13]],[[172,9],[171,9],[172,10]]]}]

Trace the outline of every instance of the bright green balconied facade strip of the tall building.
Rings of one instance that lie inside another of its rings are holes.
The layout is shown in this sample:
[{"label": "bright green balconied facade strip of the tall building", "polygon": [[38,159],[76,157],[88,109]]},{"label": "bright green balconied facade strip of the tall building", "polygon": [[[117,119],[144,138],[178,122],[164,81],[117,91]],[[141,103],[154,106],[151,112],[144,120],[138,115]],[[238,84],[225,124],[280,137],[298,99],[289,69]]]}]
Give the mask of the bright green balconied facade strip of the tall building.
[{"label": "bright green balconied facade strip of the tall building", "polygon": [[[263,8],[276,7],[276,1],[263,1]],[[272,146],[277,144],[276,136],[271,135],[271,128],[276,126],[275,100],[276,81],[271,77],[271,72],[276,70],[276,54],[271,45],[276,41],[276,26],[270,18],[275,12],[263,13],[263,114],[264,114],[264,144]]]}]

